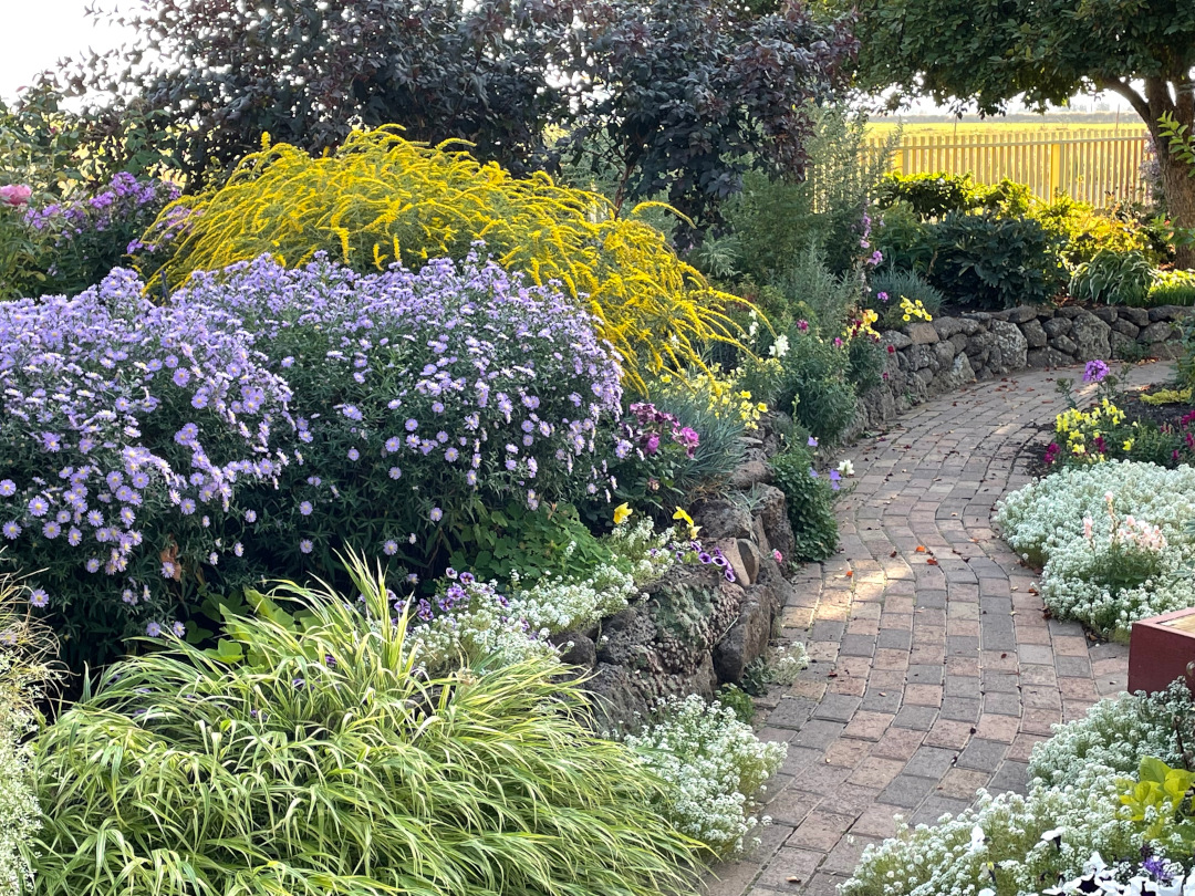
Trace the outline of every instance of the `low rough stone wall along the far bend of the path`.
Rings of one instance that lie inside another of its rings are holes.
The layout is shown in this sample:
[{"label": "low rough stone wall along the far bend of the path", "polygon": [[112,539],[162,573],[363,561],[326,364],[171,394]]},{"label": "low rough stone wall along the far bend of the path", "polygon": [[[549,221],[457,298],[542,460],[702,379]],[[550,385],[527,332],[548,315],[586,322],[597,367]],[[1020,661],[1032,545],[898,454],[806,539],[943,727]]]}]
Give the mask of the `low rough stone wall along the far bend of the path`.
[{"label": "low rough stone wall along the far bend of the path", "polygon": [[1092,358],[1175,358],[1175,323],[1191,313],[1158,308],[1021,306],[995,313],[918,321],[881,335],[890,346],[884,382],[863,395],[848,437],[960,386],[1018,370],[1081,364]]}]

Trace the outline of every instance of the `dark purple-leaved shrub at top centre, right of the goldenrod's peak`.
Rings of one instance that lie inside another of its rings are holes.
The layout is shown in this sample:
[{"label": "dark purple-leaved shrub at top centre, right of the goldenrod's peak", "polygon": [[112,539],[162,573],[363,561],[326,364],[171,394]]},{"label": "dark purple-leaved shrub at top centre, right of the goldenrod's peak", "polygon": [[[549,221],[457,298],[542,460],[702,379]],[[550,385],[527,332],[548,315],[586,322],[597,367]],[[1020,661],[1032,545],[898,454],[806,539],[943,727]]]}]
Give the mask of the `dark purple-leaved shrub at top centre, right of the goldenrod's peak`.
[{"label": "dark purple-leaved shrub at top centre, right of the goldenrod's peak", "polygon": [[703,228],[722,223],[746,171],[802,177],[809,108],[845,84],[853,48],[845,18],[796,4],[756,16],[731,0],[605,0],[578,13],[572,70],[590,90],[565,143],[618,173],[617,208],[662,195]]}]

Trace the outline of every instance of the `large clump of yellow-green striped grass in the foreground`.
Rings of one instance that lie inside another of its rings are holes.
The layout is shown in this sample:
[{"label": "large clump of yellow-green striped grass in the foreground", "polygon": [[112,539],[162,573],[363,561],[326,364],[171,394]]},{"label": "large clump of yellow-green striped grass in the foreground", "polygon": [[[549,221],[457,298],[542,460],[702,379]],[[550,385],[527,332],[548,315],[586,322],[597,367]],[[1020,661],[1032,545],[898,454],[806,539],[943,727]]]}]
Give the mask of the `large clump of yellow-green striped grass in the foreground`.
[{"label": "large clump of yellow-green striped grass in the foreground", "polygon": [[229,619],[253,657],[176,643],[88,681],[37,743],[35,892],[533,896],[688,891],[658,779],[564,668],[417,668],[385,576],[358,609],[288,588],[299,630]]}]

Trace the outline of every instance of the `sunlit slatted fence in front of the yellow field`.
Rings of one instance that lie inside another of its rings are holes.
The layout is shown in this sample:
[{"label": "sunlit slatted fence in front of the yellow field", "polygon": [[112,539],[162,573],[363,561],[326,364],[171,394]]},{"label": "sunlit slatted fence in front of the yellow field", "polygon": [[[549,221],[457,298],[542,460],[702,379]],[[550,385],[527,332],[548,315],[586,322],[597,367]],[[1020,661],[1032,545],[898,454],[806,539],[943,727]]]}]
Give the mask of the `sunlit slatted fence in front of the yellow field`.
[{"label": "sunlit slatted fence in front of the yellow field", "polygon": [[[881,152],[885,141],[871,137]],[[905,134],[893,149],[890,167],[905,174],[970,172],[985,184],[1009,178],[1029,184],[1049,200],[1060,194],[1097,208],[1142,198],[1141,162],[1145,129],[1109,133],[1076,128],[1060,131],[991,130],[980,134]]]}]

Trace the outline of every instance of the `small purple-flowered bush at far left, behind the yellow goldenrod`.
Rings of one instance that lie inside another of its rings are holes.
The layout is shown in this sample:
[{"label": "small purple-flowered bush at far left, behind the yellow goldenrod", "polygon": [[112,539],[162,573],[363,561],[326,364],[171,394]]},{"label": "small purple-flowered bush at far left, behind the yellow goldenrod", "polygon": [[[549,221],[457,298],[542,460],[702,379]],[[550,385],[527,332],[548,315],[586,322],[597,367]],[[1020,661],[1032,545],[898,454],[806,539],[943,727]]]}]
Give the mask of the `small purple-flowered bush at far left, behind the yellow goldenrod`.
[{"label": "small purple-flowered bush at far left, behind the yellow goldenrod", "polygon": [[[122,172],[92,196],[30,208],[25,222],[44,240],[45,282],[39,291],[75,295],[134,252],[152,256],[159,247],[146,246],[137,237],[178,196],[174,184]],[[160,239],[177,232],[167,226]]]}]

